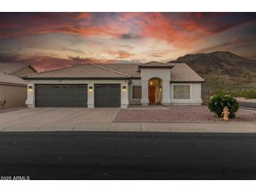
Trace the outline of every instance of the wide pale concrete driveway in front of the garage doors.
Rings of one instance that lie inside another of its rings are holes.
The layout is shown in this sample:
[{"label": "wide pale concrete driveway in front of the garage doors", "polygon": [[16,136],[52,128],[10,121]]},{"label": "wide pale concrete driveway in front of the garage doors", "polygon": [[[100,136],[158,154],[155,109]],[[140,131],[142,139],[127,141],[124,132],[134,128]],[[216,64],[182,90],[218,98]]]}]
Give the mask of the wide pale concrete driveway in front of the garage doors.
[{"label": "wide pale concrete driveway in front of the garage doors", "polygon": [[109,130],[118,108],[34,108],[0,114],[1,131]]}]

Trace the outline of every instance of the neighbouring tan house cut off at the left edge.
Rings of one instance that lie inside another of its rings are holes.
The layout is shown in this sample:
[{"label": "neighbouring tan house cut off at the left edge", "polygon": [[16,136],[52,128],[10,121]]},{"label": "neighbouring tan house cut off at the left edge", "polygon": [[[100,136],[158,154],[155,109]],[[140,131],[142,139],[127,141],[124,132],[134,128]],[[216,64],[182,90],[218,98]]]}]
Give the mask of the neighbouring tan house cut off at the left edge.
[{"label": "neighbouring tan house cut off at the left edge", "polygon": [[35,72],[29,64],[0,62],[0,109],[26,106],[27,82],[20,76]]}]

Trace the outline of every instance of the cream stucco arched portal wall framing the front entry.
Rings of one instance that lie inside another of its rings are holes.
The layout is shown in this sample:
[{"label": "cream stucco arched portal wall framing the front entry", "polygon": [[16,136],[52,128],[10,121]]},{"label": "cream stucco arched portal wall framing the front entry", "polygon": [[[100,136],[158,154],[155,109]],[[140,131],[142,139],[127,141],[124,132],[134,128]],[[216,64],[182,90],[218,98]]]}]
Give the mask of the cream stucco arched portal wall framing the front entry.
[{"label": "cream stucco arched portal wall framing the front entry", "polygon": [[151,78],[162,80],[162,104],[170,104],[170,69],[141,69],[142,105],[149,104],[148,82]]}]

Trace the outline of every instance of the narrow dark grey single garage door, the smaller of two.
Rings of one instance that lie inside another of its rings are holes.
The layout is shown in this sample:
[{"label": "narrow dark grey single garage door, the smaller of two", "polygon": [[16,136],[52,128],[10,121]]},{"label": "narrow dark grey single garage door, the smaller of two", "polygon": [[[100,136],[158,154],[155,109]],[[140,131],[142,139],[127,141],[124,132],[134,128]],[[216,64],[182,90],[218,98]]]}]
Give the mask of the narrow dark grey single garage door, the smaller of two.
[{"label": "narrow dark grey single garage door, the smaller of two", "polygon": [[95,84],[95,107],[121,107],[120,84]]}]

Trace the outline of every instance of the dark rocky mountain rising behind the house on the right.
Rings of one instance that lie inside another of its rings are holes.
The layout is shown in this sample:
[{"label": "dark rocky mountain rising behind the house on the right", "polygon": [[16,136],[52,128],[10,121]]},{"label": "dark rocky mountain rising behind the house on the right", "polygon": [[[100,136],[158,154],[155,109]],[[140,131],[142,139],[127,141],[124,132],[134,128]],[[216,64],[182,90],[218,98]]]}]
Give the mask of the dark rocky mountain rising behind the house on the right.
[{"label": "dark rocky mountain rising behind the house on the right", "polygon": [[234,53],[216,51],[188,54],[171,62],[187,63],[206,80],[203,88],[212,90],[256,89],[256,60],[250,60]]}]

